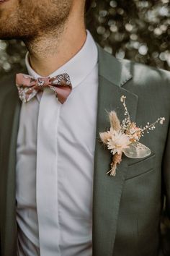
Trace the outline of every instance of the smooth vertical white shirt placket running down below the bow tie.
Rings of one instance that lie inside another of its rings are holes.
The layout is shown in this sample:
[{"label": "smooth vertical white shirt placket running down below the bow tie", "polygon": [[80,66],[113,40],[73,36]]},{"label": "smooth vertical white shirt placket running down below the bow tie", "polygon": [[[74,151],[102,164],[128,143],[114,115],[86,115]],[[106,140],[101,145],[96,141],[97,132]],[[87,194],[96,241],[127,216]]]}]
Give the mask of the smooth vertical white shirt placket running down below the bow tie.
[{"label": "smooth vertical white shirt placket running down below the bow tie", "polygon": [[57,170],[60,109],[53,92],[45,89],[37,124],[36,200],[41,256],[61,256]]}]

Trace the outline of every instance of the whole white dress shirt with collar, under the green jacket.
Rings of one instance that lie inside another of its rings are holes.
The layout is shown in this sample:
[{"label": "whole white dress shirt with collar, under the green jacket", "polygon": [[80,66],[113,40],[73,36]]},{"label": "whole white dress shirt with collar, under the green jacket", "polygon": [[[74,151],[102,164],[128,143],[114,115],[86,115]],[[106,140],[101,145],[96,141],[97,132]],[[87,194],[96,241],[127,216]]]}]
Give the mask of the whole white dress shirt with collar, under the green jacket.
[{"label": "whole white dress shirt with collar, under the green jacket", "polygon": [[[81,50],[50,74],[68,73],[62,105],[52,90],[22,103],[17,137],[19,256],[91,256],[97,121],[97,46],[89,31]],[[27,71],[40,77],[30,67]]]}]

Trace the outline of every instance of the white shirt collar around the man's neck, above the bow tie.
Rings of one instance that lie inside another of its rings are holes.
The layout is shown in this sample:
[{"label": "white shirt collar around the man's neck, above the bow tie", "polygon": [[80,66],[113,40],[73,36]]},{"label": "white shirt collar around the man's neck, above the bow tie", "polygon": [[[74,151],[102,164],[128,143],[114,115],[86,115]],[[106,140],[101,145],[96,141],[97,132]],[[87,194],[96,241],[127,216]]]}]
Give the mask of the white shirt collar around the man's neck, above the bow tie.
[{"label": "white shirt collar around the man's neck, above the bow tie", "polygon": [[[55,72],[50,74],[49,77],[55,77],[58,74],[68,73],[71,78],[71,84],[73,88],[75,88],[87,77],[87,75],[95,67],[95,65],[97,64],[97,59],[97,45],[89,30],[86,30],[86,41],[84,43],[84,46],[81,47],[80,51],[75,56],[73,56],[73,58],[63,64],[62,67],[55,70]],[[35,79],[37,79],[37,77],[40,77],[40,75],[37,74],[30,66],[28,52],[25,56],[25,64],[28,74],[30,74]]]}]

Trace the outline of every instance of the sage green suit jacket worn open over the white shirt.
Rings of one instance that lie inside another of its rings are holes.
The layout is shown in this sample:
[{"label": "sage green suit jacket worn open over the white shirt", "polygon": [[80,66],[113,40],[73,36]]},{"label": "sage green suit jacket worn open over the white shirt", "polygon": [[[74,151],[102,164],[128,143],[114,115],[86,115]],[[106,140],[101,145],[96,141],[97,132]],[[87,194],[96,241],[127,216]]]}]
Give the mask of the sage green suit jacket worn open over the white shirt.
[{"label": "sage green suit jacket worn open over the white shirt", "polygon": [[[117,60],[99,46],[98,50],[93,256],[168,256],[170,238],[161,234],[160,220],[164,195],[170,217],[170,73]],[[1,256],[16,255],[15,166],[21,102],[14,80],[12,74],[0,81]],[[131,119],[138,126],[160,116],[166,121],[140,140],[151,149],[151,155],[140,159],[124,155],[117,175],[111,177],[106,172],[112,155],[100,142],[99,132],[109,129],[107,111],[115,110],[123,119],[122,95],[126,95]]]}]

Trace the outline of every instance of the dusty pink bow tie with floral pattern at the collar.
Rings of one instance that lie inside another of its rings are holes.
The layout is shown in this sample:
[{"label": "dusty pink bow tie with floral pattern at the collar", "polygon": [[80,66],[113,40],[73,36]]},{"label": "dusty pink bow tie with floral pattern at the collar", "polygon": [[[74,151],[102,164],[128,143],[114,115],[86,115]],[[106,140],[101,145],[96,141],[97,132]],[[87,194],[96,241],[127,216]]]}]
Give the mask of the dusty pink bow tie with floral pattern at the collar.
[{"label": "dusty pink bow tie with floral pattern at the collar", "polygon": [[39,91],[44,88],[50,88],[54,91],[55,96],[62,104],[71,93],[72,85],[68,74],[58,74],[56,77],[38,77],[34,79],[27,74],[16,74],[16,85],[19,91],[19,98],[22,102],[27,103]]}]

